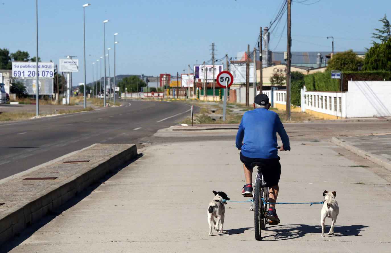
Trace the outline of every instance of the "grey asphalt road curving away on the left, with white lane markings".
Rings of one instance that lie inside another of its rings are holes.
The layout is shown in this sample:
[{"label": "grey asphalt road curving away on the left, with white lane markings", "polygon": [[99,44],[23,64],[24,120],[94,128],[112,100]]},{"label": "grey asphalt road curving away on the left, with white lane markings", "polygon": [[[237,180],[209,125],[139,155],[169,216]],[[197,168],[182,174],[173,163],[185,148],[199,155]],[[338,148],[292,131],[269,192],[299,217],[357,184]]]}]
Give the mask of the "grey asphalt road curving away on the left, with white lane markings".
[{"label": "grey asphalt road curving away on the left, with white lane markings", "polygon": [[0,179],[91,144],[140,144],[187,116],[185,103],[132,100],[121,107],[1,124]]}]

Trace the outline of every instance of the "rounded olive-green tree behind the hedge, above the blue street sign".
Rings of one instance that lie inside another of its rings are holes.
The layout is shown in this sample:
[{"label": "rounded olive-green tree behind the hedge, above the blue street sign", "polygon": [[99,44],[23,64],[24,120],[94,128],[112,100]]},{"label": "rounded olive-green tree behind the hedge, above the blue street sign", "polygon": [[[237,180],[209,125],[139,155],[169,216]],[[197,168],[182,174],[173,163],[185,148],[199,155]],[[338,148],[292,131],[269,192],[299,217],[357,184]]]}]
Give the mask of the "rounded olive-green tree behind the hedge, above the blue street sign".
[{"label": "rounded olive-green tree behind the hedge, above the blue street sign", "polygon": [[352,49],[334,54],[328,61],[326,70],[358,71],[358,66],[364,64],[364,59],[357,56]]}]

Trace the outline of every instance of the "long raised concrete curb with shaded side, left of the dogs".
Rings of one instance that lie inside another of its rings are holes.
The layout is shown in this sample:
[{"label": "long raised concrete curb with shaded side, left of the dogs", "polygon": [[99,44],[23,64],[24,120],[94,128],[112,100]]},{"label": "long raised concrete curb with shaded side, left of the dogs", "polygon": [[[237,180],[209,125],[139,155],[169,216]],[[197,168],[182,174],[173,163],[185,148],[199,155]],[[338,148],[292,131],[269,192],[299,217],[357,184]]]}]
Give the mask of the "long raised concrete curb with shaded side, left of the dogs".
[{"label": "long raised concrete curb with shaded side, left of the dogs", "polygon": [[129,144],[111,154],[105,161],[91,164],[78,174],[9,208],[0,214],[0,245],[47,215],[48,211],[63,205],[94,181],[136,156],[136,145]]}]

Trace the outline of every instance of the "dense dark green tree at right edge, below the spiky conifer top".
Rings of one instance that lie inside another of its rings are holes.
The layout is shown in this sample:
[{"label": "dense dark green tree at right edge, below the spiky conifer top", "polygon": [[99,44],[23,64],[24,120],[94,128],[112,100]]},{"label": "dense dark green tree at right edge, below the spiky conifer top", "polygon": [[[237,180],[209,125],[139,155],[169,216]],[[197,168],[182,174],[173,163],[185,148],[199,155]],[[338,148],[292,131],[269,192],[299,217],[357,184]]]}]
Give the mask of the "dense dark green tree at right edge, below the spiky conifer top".
[{"label": "dense dark green tree at right edge, below the spiky conifer top", "polygon": [[381,44],[374,44],[365,54],[362,70],[391,71],[391,37]]}]

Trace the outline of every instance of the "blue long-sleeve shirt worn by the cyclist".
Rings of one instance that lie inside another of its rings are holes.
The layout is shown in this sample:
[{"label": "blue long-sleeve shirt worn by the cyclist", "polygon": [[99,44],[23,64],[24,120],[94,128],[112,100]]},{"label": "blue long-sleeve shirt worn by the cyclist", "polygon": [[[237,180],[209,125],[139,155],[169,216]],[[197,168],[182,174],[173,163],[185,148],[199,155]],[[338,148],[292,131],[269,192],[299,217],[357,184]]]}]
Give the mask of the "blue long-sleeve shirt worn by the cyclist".
[{"label": "blue long-sleeve shirt worn by the cyclist", "polygon": [[236,147],[250,158],[278,158],[276,133],[284,149],[289,149],[289,137],[277,113],[265,108],[246,111],[236,135]]}]

